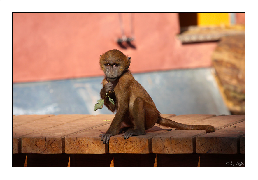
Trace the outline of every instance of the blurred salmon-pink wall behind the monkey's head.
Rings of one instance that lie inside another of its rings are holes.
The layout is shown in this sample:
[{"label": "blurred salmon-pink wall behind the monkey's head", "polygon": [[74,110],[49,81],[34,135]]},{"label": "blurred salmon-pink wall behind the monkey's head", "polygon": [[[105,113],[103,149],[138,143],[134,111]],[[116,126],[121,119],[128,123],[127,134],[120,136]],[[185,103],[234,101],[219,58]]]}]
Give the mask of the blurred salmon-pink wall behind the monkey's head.
[{"label": "blurred salmon-pink wall behind the monkey's head", "polygon": [[[131,13],[122,13],[130,36]],[[134,13],[134,44],[121,48],[118,13],[13,13],[13,82],[101,76],[99,57],[118,49],[133,73],[211,66],[217,43],[182,45],[178,13]]]}]

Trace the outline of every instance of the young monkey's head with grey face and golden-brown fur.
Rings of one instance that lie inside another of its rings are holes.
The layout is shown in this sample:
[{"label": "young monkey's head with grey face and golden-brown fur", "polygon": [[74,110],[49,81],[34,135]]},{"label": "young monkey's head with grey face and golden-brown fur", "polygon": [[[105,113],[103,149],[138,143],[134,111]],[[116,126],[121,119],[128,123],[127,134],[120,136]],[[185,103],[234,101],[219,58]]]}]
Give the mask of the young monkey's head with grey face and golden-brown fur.
[{"label": "young monkey's head with grey face and golden-brown fur", "polygon": [[130,66],[131,58],[124,55],[119,50],[109,50],[100,55],[99,64],[109,81],[115,81],[127,71]]}]

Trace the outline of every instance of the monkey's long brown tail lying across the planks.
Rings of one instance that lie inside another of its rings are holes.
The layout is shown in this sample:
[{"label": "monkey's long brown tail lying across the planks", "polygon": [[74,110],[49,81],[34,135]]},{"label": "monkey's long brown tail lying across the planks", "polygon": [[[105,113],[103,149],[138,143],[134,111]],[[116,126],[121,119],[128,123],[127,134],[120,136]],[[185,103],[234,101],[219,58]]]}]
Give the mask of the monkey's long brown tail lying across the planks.
[{"label": "monkey's long brown tail lying across the planks", "polygon": [[167,118],[161,117],[157,124],[170,127],[170,128],[176,128],[180,130],[205,130],[206,133],[211,133],[215,131],[215,128],[211,125],[188,125],[188,124],[181,124],[175,121],[172,121]]}]

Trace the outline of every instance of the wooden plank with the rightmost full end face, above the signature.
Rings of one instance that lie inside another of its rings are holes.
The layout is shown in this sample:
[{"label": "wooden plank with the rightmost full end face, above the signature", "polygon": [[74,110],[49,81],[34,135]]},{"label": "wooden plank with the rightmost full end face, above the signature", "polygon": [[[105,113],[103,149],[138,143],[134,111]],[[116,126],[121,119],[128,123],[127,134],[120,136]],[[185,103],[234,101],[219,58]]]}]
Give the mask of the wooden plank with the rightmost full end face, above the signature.
[{"label": "wooden plank with the rightmost full end face, above the signature", "polygon": [[245,121],[196,137],[196,153],[238,154],[240,137],[245,135]]}]

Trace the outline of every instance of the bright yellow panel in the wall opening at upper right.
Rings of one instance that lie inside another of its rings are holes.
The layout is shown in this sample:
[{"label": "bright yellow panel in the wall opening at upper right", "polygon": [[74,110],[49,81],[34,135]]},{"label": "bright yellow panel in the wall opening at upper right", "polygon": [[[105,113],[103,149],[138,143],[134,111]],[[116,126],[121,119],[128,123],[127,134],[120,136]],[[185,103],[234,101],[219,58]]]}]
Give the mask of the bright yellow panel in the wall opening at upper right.
[{"label": "bright yellow panel in the wall opening at upper right", "polygon": [[229,13],[197,13],[197,24],[199,26],[206,25],[229,25]]}]

